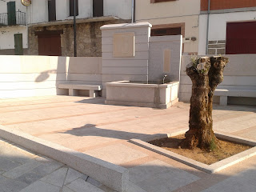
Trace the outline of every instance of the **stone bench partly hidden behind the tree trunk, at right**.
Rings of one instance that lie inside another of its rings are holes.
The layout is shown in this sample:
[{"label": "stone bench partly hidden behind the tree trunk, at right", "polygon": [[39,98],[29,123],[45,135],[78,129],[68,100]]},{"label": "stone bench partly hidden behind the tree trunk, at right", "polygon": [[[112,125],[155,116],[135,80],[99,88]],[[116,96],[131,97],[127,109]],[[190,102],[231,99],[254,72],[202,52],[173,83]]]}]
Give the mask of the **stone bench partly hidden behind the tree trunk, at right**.
[{"label": "stone bench partly hidden behind the tree trunk, at right", "polygon": [[227,97],[256,98],[256,90],[216,89],[214,96],[220,96],[219,104],[227,105]]}]

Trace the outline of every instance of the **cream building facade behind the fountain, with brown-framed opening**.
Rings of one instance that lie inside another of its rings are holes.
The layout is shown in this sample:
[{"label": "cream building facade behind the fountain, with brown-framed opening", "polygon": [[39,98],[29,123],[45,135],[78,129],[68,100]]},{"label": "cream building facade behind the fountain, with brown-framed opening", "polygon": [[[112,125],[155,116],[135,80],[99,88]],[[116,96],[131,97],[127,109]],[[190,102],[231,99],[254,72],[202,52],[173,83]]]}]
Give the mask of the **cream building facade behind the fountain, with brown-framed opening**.
[{"label": "cream building facade behind the fountain, with brown-framed opening", "polygon": [[151,36],[182,34],[183,54],[198,53],[200,0],[137,0],[136,22],[150,22]]}]

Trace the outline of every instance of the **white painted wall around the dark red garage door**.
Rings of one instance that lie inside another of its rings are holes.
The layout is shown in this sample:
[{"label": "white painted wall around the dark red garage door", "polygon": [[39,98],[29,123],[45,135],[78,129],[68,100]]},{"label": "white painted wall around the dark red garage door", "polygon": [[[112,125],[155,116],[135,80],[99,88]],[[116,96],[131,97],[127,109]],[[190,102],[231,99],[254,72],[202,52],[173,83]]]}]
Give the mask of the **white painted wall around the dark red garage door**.
[{"label": "white painted wall around the dark red garage door", "polygon": [[[256,11],[210,14],[209,41],[226,40],[227,22],[255,21]],[[206,54],[207,14],[199,16],[198,54]]]}]

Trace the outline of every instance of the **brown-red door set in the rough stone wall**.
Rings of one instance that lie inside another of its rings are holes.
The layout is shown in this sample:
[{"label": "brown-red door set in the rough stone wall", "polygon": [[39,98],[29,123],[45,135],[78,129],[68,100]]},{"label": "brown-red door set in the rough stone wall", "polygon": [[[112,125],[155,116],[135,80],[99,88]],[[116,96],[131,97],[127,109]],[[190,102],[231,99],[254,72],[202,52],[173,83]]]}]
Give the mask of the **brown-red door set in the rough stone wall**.
[{"label": "brown-red door set in the rough stone wall", "polygon": [[38,34],[38,54],[62,56],[60,34]]}]

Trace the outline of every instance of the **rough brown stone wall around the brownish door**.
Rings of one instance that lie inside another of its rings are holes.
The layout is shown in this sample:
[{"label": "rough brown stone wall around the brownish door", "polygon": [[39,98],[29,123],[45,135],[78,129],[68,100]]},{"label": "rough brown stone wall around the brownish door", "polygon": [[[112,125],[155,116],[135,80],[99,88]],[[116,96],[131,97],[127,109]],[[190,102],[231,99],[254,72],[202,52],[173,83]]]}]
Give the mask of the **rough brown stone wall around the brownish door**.
[{"label": "rough brown stone wall around the brownish door", "polygon": [[[77,55],[78,57],[102,56],[101,26],[112,23],[130,22],[130,20],[113,20],[107,22],[86,22],[77,24]],[[61,34],[62,56],[74,56],[73,25],[58,26],[30,26],[28,54],[38,55],[38,36],[35,34],[42,30],[63,30]]]}]

